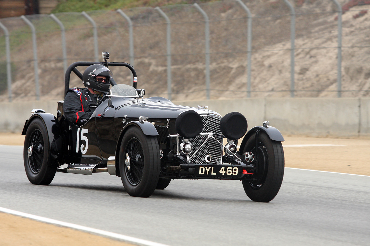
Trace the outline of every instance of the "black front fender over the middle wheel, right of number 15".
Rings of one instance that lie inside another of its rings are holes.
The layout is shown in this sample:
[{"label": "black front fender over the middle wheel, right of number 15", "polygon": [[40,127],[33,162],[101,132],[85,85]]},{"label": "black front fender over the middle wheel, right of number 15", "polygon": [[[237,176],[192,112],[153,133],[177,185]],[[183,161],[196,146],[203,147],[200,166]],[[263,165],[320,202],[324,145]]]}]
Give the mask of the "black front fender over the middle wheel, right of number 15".
[{"label": "black front fender over the middle wheel, right of number 15", "polygon": [[155,129],[154,125],[148,121],[130,121],[128,122],[124,128],[122,129],[120,133],[120,137],[118,138],[117,141],[117,146],[116,146],[116,151],[115,151],[115,169],[116,169],[116,175],[120,177],[120,165],[118,163],[119,158],[120,158],[120,146],[121,146],[121,141],[123,136],[125,135],[125,132],[127,129],[131,126],[136,126],[141,129],[141,131],[148,136],[158,136],[158,131]]}]

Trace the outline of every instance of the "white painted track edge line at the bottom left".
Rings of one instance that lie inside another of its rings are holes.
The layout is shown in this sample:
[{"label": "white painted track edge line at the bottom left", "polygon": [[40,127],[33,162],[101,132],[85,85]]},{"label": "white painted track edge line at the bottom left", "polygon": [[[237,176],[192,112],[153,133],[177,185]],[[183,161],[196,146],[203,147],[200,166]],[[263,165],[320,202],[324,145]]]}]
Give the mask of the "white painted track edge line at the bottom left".
[{"label": "white painted track edge line at the bottom left", "polygon": [[133,237],[130,237],[130,236],[125,236],[125,235],[121,235],[121,234],[114,233],[114,232],[107,232],[107,231],[103,231],[103,230],[99,230],[99,229],[95,229],[95,228],[91,228],[91,227],[87,227],[87,226],[76,225],[76,224],[67,223],[67,222],[63,222],[63,221],[57,221],[55,219],[49,219],[49,218],[45,218],[45,217],[41,217],[41,216],[37,216],[37,215],[26,214],[26,213],[23,213],[23,212],[19,212],[19,211],[7,209],[7,208],[0,207],[0,211],[4,212],[4,213],[7,213],[7,214],[14,214],[14,215],[34,219],[34,220],[37,220],[37,221],[46,222],[46,223],[49,223],[49,224],[61,225],[61,226],[77,229],[77,230],[80,230],[80,231],[91,232],[91,233],[95,233],[95,234],[98,234],[98,235],[107,236],[107,237],[110,237],[110,238],[120,239],[120,240],[128,242],[128,243],[134,243],[135,245],[168,246],[168,245],[165,245],[165,244],[162,244],[162,243],[155,243],[155,242],[151,242],[151,241],[148,241],[148,240],[133,238]]}]

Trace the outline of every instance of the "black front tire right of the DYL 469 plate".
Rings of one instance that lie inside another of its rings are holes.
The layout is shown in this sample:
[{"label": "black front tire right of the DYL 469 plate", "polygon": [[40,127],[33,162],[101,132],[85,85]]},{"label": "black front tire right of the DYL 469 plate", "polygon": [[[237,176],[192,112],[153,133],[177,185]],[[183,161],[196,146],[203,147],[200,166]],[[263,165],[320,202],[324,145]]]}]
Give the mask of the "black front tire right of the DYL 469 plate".
[{"label": "black front tire right of the DYL 469 plate", "polygon": [[[255,134],[250,136],[243,153],[255,153]],[[280,190],[284,176],[284,151],[281,142],[271,140],[260,131],[258,137],[258,171],[252,180],[243,180],[243,188],[250,200],[269,202]]]}]

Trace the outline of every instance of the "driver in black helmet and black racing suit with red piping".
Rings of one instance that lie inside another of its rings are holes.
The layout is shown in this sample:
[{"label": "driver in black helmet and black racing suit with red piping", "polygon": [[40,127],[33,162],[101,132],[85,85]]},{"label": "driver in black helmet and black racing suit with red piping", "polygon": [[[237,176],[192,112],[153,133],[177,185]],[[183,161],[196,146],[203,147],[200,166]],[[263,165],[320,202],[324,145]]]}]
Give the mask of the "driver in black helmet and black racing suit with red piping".
[{"label": "driver in black helmet and black racing suit with red piping", "polygon": [[95,108],[106,99],[110,81],[113,80],[112,71],[94,64],[85,69],[82,80],[87,88],[68,90],[63,104],[65,118],[76,125],[85,124]]}]

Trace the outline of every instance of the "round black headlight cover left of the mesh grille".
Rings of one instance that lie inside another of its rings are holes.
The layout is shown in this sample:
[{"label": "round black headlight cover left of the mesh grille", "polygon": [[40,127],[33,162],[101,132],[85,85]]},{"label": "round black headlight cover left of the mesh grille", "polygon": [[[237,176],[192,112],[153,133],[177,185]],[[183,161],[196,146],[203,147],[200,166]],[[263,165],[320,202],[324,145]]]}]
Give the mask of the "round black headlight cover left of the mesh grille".
[{"label": "round black headlight cover left of the mesh grille", "polygon": [[175,128],[183,138],[194,138],[202,132],[202,117],[194,110],[182,112],[176,119]]}]

